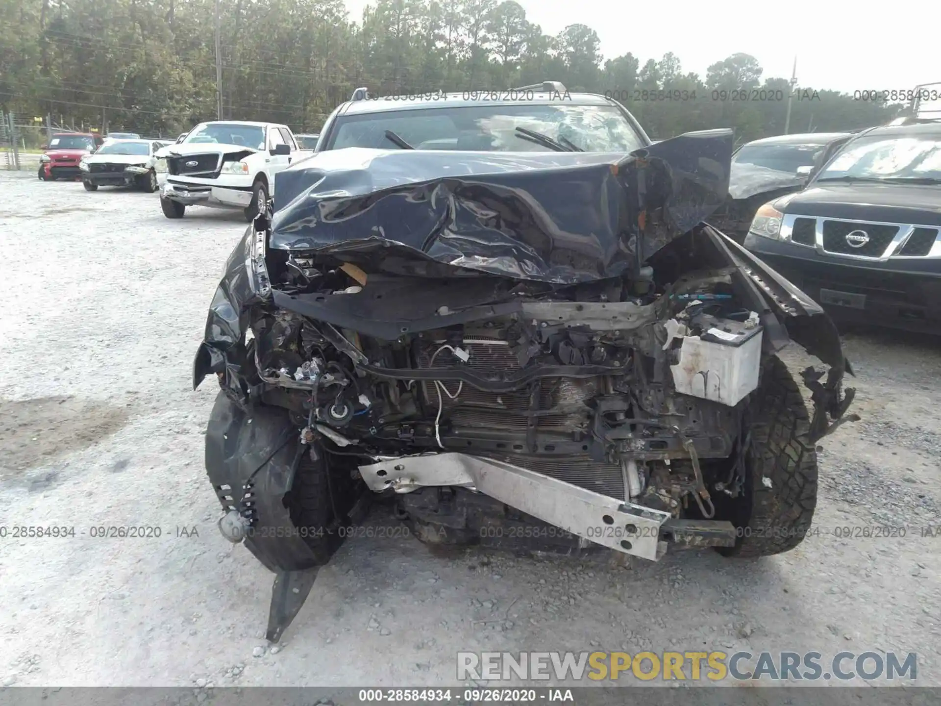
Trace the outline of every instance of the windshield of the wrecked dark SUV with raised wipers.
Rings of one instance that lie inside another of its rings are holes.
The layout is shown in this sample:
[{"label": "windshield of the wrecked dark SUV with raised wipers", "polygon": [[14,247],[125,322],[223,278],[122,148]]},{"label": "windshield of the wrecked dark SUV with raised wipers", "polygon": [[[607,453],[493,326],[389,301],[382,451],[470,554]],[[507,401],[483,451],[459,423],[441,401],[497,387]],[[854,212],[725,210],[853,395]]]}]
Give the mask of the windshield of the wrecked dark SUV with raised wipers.
[{"label": "windshield of the wrecked dark SUV with raised wipers", "polygon": [[546,144],[520,138],[517,128],[584,152],[632,152],[644,146],[614,105],[492,104],[391,110],[337,119],[327,150],[368,147],[394,150],[387,131],[416,150],[551,152]]}]

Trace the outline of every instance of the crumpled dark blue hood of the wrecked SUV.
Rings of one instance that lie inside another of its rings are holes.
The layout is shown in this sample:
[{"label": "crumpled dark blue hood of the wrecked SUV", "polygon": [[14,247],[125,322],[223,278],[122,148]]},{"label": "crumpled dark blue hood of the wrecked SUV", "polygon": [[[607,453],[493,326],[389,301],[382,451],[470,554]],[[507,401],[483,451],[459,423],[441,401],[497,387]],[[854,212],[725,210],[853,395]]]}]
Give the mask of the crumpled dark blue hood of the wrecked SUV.
[{"label": "crumpled dark blue hood of the wrecked SUV", "polygon": [[615,277],[723,204],[732,143],[709,130],[630,154],[318,152],[278,174],[268,247],[385,250],[518,280]]}]

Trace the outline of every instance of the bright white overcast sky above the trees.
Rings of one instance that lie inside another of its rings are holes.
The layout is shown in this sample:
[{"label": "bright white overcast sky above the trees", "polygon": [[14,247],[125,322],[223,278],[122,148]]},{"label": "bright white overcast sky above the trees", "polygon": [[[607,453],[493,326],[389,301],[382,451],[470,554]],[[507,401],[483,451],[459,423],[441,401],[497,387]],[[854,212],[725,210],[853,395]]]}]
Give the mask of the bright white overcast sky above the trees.
[{"label": "bright white overcast sky above the trees", "polygon": [[[362,8],[371,4],[345,2],[357,21]],[[546,34],[557,34],[567,24],[592,27],[605,58],[631,52],[643,64],[673,52],[683,72],[697,72],[703,78],[710,64],[744,52],[758,59],[763,78],[789,77],[796,54],[799,86],[852,93],[941,81],[938,0],[871,5],[837,0],[518,3],[526,9],[527,19],[541,24]]]}]

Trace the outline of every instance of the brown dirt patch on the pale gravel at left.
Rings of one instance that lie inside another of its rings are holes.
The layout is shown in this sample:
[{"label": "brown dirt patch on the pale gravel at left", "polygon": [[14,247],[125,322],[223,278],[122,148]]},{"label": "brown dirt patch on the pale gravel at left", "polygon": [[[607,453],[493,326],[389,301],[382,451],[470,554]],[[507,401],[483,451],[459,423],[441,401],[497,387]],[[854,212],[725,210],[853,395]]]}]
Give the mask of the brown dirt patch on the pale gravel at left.
[{"label": "brown dirt patch on the pale gravel at left", "polygon": [[130,411],[68,396],[0,399],[0,478],[110,436]]}]

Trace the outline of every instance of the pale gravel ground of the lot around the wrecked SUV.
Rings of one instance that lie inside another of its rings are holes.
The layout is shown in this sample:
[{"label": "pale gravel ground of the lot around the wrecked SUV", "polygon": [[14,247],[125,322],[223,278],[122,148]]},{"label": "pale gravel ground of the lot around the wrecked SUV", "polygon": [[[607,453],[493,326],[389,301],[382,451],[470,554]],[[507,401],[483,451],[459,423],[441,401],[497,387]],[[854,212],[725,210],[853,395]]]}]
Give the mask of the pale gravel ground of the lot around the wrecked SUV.
[{"label": "pale gravel ground of the lot around the wrecked SUV", "polygon": [[[272,577],[215,529],[215,386],[191,389],[241,214],[170,221],[154,194],[24,173],[0,193],[0,526],[76,533],[0,539],[4,685],[435,685],[457,650],[595,649],[916,650],[917,682],[941,684],[941,537],[919,529],[941,523],[941,343],[846,336],[862,420],[821,441],[821,534],[789,554],[623,569],[355,538],[268,648]],[[161,536],[90,536],[112,525]]]}]

